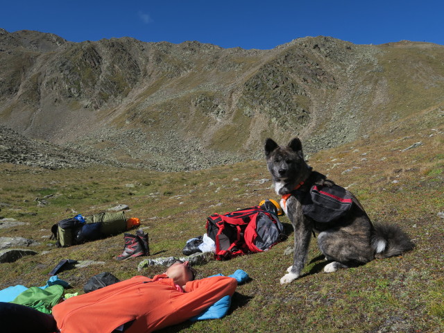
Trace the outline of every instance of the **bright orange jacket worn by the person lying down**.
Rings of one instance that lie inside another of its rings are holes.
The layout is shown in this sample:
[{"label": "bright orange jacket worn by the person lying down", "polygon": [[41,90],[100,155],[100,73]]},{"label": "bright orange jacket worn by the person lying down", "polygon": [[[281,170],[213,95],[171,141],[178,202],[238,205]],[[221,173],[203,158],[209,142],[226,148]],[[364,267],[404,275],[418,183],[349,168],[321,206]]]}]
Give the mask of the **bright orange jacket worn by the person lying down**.
[{"label": "bright orange jacket worn by the person lying down", "polygon": [[129,321],[125,333],[147,333],[187,321],[236,287],[234,278],[216,276],[187,282],[181,293],[166,275],[136,276],[69,298],[53,307],[53,316],[61,333],[110,333]]}]

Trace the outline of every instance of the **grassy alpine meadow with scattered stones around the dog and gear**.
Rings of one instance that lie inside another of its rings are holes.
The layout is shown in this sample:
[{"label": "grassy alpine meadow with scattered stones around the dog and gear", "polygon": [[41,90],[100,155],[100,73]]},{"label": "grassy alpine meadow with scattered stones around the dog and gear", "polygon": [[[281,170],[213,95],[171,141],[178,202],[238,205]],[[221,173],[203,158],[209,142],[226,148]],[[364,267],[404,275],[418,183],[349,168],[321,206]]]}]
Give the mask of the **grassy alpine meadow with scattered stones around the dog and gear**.
[{"label": "grassy alpine meadow with scattered stones around the dog and gear", "polygon": [[[357,195],[370,219],[400,225],[416,244],[414,250],[327,274],[313,239],[302,276],[280,285],[293,244],[291,225],[282,216],[289,238],[271,250],[196,266],[198,278],[230,275],[239,268],[250,275],[237,288],[225,318],[162,332],[444,332],[444,219],[438,214],[444,212],[444,118],[442,109],[427,112],[431,121],[420,121],[425,114],[418,114],[385,132],[309,156],[316,171]],[[123,233],[57,248],[49,239],[51,226],[126,204],[126,216],[138,217],[149,234],[152,258],[180,256],[188,239],[205,233],[210,214],[278,200],[270,178],[264,161],[178,173],[1,164],[0,215],[26,225],[0,228],[0,237],[39,244],[30,247],[37,255],[0,264],[0,288],[42,286],[61,259],[95,262],[58,273],[71,284],[69,293],[83,293],[85,282],[104,271],[121,280],[152,277],[162,268],[137,271],[144,257],[114,259],[123,250]],[[39,205],[42,199],[46,205]]]}]

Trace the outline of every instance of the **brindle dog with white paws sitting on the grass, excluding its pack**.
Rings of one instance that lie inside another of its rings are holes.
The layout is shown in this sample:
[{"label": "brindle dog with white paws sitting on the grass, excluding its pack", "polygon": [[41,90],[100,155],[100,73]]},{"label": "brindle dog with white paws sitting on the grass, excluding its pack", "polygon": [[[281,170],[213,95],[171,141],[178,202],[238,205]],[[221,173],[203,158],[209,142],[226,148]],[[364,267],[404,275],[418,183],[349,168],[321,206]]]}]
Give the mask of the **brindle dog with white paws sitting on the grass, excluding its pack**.
[{"label": "brindle dog with white paws sitting on the grass, excluding its pack", "polygon": [[284,147],[268,138],[264,146],[275,191],[280,196],[288,197],[285,202],[281,200],[281,205],[294,228],[293,265],[280,279],[281,284],[299,278],[314,232],[318,234],[321,253],[331,261],[324,267],[325,273],[360,266],[375,258],[401,255],[413,248],[407,234],[398,226],[373,224],[359,200],[348,190],[345,190],[345,194],[351,198],[350,209],[337,221],[319,223],[306,216],[302,212],[302,203],[311,187],[332,187],[334,182],[309,167],[298,137],[291,139]]}]

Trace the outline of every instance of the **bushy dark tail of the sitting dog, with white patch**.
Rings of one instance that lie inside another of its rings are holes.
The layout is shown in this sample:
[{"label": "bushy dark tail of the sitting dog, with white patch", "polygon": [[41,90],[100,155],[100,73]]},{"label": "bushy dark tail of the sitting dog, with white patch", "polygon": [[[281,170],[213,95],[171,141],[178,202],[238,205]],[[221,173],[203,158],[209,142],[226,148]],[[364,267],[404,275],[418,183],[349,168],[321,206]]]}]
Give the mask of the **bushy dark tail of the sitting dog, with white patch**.
[{"label": "bushy dark tail of the sitting dog, with white patch", "polygon": [[371,241],[375,258],[378,259],[402,255],[415,247],[410,237],[397,225],[375,223]]}]

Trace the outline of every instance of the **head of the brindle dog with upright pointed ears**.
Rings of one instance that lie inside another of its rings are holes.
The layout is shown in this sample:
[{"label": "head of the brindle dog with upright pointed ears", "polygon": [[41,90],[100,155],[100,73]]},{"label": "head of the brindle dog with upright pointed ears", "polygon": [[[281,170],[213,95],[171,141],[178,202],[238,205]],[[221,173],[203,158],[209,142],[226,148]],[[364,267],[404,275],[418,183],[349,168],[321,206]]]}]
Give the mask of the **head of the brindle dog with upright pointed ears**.
[{"label": "head of the brindle dog with upright pointed ears", "polygon": [[286,147],[279,146],[273,139],[266,139],[265,156],[268,171],[273,176],[278,194],[289,193],[311,172],[311,168],[304,160],[302,144],[297,137]]}]

